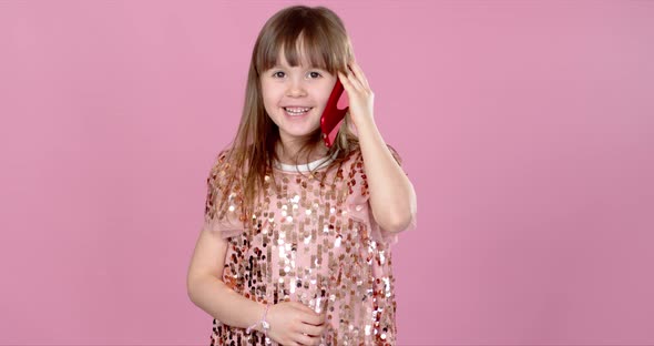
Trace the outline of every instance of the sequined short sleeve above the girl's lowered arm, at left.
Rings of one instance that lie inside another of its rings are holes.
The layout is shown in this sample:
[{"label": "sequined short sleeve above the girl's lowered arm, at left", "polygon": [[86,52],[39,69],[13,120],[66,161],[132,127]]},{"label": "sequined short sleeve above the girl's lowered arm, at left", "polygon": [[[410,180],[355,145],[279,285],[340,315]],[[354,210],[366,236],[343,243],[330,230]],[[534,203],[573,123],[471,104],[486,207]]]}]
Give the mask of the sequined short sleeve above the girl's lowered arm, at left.
[{"label": "sequined short sleeve above the girl's lowered arm, at left", "polygon": [[[216,157],[206,179],[206,201],[204,208],[203,231],[218,233],[223,238],[238,235],[245,230],[242,216],[242,189],[237,175],[232,186],[227,186],[229,175],[234,174],[233,165],[227,162],[226,151]],[[228,193],[226,208],[218,210],[221,199]]]}]

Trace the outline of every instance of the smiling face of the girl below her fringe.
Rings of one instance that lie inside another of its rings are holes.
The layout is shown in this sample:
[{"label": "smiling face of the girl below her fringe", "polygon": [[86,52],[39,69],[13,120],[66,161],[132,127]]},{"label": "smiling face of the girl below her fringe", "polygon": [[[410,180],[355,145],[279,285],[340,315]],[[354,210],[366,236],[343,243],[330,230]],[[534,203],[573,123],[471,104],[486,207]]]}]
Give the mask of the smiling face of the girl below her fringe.
[{"label": "smiling face of the girl below her fringe", "polygon": [[320,126],[320,114],[338,77],[309,67],[306,60],[292,68],[282,50],[277,61],[280,64],[262,74],[262,92],[266,112],[279,128],[282,143],[288,144]]}]

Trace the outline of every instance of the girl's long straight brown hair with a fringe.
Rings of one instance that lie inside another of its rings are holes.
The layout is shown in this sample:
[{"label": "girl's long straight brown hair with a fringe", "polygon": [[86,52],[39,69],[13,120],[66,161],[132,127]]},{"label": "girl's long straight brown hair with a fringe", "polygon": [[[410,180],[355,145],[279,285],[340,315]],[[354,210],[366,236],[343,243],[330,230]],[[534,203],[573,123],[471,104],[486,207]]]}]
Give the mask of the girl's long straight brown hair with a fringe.
[{"label": "girl's long straight brown hair with a fringe", "polygon": [[[320,68],[331,74],[337,71],[347,74],[347,63],[354,57],[351,41],[343,21],[331,10],[325,7],[293,6],[285,8],[270,17],[262,28],[255,42],[241,123],[231,147],[224,150],[227,162],[236,167],[234,174],[227,177],[223,191],[229,191],[236,179],[242,180],[242,215],[243,221],[249,220],[257,192],[264,189],[267,174],[274,174],[273,165],[278,160],[277,146],[279,129],[266,113],[262,96],[260,73],[277,64],[277,58],[283,50],[284,57],[292,67],[300,64],[305,57],[311,67]],[[359,140],[352,133],[349,112],[338,130],[334,145],[327,155],[336,155],[327,166],[327,171],[343,162],[352,151],[359,149]],[[309,157],[310,153],[321,145],[320,129],[309,133],[302,143],[299,151]],[[390,145],[388,145],[390,147]],[[395,150],[391,150],[395,154]],[[398,160],[399,156],[396,156]],[[314,173],[314,172],[311,172]],[[236,176],[238,175],[238,176]],[[321,174],[324,182],[326,174]],[[278,191],[275,180],[273,187]],[[217,207],[219,215],[224,215],[227,194],[223,194]]]}]

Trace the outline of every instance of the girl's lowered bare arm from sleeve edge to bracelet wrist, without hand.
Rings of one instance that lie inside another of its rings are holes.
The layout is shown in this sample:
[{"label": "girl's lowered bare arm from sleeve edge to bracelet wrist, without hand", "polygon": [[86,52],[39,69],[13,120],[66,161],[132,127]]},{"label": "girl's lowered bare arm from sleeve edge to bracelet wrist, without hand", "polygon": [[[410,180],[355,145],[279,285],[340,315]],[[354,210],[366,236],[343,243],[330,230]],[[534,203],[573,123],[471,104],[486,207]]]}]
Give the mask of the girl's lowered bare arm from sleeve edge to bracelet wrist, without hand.
[{"label": "girl's lowered bare arm from sleeve edge to bracelet wrist, without hand", "polygon": [[[227,241],[202,231],[188,267],[186,289],[197,307],[222,323],[247,328],[262,318],[265,305],[234,292],[222,281]],[[260,324],[255,328],[262,330]]]}]

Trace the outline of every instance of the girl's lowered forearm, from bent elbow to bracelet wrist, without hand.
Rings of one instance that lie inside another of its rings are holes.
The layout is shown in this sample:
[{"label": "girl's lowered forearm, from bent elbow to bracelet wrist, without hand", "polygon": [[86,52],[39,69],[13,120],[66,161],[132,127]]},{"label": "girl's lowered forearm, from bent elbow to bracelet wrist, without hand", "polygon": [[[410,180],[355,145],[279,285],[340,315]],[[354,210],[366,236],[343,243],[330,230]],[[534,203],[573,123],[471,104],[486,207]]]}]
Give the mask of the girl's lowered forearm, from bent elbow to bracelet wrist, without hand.
[{"label": "girl's lowered forearm, from bent elbow to bracelet wrist, without hand", "polygon": [[[247,328],[258,322],[265,305],[248,299],[212,275],[192,278],[188,297],[197,307],[232,327]],[[256,330],[262,330],[260,324]]]}]

